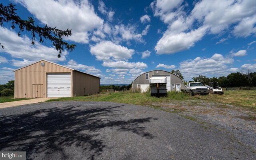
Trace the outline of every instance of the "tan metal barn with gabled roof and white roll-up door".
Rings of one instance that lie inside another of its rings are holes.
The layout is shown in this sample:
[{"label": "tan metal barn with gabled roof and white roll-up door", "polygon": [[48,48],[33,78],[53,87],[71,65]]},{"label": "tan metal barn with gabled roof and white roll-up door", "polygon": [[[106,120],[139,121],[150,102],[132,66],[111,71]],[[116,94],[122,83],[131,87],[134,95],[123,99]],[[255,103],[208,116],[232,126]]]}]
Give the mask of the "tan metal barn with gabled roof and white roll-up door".
[{"label": "tan metal barn with gabled roof and white roll-up door", "polygon": [[100,77],[47,60],[14,70],[15,98],[84,96],[100,92]]}]

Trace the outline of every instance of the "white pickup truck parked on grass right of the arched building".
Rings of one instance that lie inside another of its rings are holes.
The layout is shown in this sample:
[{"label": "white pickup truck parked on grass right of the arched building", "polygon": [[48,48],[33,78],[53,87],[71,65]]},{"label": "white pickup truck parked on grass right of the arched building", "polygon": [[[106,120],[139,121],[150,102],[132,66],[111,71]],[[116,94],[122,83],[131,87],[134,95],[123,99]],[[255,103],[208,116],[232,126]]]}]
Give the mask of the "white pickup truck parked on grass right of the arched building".
[{"label": "white pickup truck parked on grass right of the arched building", "polygon": [[190,93],[191,96],[195,94],[209,94],[209,90],[206,86],[199,82],[188,83],[185,87],[185,91]]}]

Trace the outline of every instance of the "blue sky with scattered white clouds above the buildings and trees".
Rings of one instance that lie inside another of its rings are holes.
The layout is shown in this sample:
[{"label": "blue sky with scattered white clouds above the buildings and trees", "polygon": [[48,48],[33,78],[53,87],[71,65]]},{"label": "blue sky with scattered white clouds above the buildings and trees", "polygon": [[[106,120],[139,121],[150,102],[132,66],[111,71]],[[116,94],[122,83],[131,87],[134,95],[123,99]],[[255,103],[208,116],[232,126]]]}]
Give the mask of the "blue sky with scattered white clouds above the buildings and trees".
[{"label": "blue sky with scattered white clouds above the buildings and trees", "polygon": [[255,0],[3,0],[36,24],[72,29],[77,45],[61,58],[50,42],[31,45],[31,34],[0,27],[0,84],[12,70],[46,59],[130,84],[150,70],[179,69],[184,80],[256,72]]}]

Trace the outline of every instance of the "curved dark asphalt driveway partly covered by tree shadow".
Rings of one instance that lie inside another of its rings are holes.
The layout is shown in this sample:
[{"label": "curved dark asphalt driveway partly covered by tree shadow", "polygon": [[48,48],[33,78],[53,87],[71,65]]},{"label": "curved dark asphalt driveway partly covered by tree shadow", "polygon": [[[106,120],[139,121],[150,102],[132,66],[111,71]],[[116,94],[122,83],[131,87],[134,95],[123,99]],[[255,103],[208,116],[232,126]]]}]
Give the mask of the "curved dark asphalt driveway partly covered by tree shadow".
[{"label": "curved dark asphalt driveway partly covered by tree shadow", "polygon": [[216,128],[113,102],[44,102],[0,109],[0,151],[28,160],[255,160]]}]

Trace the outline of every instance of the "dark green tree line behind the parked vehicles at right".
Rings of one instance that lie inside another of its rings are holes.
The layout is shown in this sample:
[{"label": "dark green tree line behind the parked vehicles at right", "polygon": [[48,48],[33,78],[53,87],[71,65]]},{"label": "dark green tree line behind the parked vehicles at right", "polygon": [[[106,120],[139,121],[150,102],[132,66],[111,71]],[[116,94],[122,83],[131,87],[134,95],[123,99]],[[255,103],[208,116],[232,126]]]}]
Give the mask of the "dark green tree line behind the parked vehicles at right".
[{"label": "dark green tree line behind the parked vehicles at right", "polygon": [[236,72],[228,74],[228,76],[221,76],[219,78],[212,77],[208,78],[203,75],[192,78],[194,81],[189,82],[201,82],[207,84],[209,82],[218,82],[220,87],[244,87],[244,86],[256,86],[256,72],[250,70],[246,73]]}]

